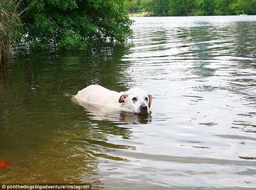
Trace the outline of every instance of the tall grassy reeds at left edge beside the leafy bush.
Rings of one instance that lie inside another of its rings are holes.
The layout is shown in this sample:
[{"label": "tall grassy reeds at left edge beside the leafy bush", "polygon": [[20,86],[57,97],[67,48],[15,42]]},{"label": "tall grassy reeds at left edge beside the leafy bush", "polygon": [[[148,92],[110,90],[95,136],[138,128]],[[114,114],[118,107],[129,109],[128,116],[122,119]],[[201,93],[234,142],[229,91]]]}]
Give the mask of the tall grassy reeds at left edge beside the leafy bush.
[{"label": "tall grassy reeds at left edge beside the leafy bush", "polygon": [[8,60],[10,48],[21,40],[22,24],[17,11],[19,3],[0,0],[0,67]]}]

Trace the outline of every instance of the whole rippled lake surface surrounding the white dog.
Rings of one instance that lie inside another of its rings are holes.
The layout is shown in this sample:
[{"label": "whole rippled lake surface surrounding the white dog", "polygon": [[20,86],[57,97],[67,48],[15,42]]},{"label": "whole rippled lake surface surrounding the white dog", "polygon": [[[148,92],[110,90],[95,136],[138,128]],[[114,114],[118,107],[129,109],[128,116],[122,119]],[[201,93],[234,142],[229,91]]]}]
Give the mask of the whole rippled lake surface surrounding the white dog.
[{"label": "whole rippled lake surface surrounding the white dog", "polygon": [[[0,183],[256,188],[256,16],[137,17],[134,39],[25,52],[0,72]],[[151,115],[86,111],[100,84],[141,87]]]}]

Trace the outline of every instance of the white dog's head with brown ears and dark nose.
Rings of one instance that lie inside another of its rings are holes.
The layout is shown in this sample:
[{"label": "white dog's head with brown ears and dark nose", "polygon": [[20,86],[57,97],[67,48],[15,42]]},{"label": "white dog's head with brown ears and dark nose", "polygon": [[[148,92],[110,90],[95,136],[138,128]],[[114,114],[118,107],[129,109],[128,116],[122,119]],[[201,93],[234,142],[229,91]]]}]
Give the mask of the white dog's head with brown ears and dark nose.
[{"label": "white dog's head with brown ears and dark nose", "polygon": [[152,95],[147,94],[145,90],[132,88],[124,92],[118,102],[121,103],[121,107],[133,113],[150,113],[152,99]]}]

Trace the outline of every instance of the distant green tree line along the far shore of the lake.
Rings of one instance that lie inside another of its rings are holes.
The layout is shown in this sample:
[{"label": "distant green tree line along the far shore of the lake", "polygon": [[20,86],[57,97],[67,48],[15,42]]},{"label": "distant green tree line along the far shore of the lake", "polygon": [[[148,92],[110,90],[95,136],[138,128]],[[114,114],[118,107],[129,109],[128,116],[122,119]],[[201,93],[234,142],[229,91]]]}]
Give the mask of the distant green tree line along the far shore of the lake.
[{"label": "distant green tree line along the far shore of the lake", "polygon": [[124,8],[151,16],[256,15],[256,0],[126,0]]}]

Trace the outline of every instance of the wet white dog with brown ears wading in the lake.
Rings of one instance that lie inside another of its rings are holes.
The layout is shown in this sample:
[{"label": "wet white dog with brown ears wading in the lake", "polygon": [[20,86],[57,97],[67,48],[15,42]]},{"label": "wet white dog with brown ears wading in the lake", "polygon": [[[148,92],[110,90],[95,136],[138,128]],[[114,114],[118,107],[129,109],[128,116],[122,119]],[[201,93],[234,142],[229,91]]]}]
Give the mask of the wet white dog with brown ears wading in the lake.
[{"label": "wet white dog with brown ears wading in the lake", "polygon": [[141,88],[115,92],[99,85],[90,85],[78,91],[75,98],[80,104],[85,102],[132,113],[150,113],[149,108],[153,99],[151,94],[147,94]]}]

